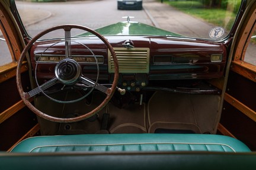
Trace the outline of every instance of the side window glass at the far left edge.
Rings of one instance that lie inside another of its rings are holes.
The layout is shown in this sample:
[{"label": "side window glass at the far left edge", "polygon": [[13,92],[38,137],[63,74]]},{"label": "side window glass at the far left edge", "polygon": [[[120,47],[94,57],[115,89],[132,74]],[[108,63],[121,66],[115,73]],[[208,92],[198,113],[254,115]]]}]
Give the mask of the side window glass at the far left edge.
[{"label": "side window glass at the far left edge", "polygon": [[0,67],[11,62],[12,57],[7,45],[7,41],[5,41],[4,35],[0,30]]}]

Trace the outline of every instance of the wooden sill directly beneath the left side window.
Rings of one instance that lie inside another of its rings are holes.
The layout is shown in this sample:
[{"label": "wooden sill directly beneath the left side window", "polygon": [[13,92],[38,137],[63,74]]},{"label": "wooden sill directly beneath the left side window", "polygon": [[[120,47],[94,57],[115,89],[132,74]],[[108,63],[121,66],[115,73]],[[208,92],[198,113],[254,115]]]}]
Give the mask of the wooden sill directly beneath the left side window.
[{"label": "wooden sill directly beneath the left side window", "polygon": [[[5,66],[0,67],[0,83],[11,79],[12,77],[16,76],[16,68],[17,68],[17,63],[12,62],[9,63]],[[28,70],[28,65],[27,61],[23,62],[23,66],[21,66],[21,73],[25,72]]]}]

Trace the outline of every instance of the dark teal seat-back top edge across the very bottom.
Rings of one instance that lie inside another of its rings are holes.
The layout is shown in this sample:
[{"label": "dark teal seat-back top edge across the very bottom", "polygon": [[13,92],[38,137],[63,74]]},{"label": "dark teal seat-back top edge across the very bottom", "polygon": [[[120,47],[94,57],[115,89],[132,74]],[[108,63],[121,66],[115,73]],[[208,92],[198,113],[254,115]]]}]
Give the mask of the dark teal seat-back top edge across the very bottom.
[{"label": "dark teal seat-back top edge across the very bottom", "polygon": [[255,169],[256,154],[230,152],[0,153],[0,169]]}]

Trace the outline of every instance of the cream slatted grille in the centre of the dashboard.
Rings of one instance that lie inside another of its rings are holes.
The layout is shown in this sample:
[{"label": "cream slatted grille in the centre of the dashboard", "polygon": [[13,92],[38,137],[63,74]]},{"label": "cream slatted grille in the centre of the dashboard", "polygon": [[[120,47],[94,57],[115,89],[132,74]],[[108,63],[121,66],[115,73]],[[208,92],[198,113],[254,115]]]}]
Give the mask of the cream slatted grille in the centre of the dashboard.
[{"label": "cream slatted grille in the centre of the dashboard", "polygon": [[[119,73],[149,73],[149,48],[114,48]],[[108,50],[108,72],[114,73],[114,62]]]}]

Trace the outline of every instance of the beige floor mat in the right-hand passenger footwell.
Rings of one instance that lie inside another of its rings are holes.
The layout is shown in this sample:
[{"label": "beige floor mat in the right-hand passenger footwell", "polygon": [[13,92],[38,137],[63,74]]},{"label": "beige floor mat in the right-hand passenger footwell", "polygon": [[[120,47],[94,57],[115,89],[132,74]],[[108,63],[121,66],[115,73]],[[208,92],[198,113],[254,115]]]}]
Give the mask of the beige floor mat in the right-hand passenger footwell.
[{"label": "beige floor mat in the right-hand passenger footwell", "polygon": [[156,91],[148,103],[148,133],[156,129],[216,133],[219,102],[217,95]]}]

